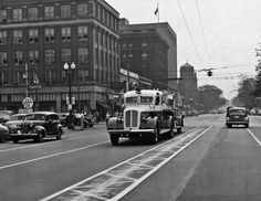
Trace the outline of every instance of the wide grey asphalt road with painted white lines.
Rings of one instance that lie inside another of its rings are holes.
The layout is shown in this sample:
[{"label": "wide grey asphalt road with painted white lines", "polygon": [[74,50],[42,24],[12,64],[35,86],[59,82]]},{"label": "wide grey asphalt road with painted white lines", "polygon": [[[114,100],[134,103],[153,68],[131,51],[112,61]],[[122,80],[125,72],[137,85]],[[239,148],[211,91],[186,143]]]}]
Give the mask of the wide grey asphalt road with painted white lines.
[{"label": "wide grey asphalt road with painted white lines", "polygon": [[42,144],[0,144],[0,200],[261,200],[261,117],[226,128],[225,115],[186,117],[156,146],[121,140],[105,125]]}]

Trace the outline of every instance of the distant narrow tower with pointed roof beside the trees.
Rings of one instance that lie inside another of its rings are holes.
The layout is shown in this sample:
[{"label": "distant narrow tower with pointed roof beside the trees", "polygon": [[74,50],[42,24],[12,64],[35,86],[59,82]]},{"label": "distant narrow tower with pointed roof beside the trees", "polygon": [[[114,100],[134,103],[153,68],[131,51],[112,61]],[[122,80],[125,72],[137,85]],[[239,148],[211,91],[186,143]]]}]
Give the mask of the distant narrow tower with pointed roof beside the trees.
[{"label": "distant narrow tower with pointed roof beside the trees", "polygon": [[197,99],[198,78],[194,66],[186,63],[180,67],[179,93],[185,97],[184,104],[190,105]]}]

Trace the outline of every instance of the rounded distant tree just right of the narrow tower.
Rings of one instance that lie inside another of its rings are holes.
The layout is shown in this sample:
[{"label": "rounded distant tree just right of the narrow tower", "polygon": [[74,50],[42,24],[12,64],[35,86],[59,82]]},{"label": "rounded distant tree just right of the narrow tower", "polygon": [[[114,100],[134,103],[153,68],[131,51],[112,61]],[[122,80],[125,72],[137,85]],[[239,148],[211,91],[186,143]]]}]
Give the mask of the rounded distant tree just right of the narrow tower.
[{"label": "rounded distant tree just right of the narrow tower", "polygon": [[215,85],[203,85],[199,87],[198,102],[206,112],[218,109],[228,102],[222,94],[223,92]]}]

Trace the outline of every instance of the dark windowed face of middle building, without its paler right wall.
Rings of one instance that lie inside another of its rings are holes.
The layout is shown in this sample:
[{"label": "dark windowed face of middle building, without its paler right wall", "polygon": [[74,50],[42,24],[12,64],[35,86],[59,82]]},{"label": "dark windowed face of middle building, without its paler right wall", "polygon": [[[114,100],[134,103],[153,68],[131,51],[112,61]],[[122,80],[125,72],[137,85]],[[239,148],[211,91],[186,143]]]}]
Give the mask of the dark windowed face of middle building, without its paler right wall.
[{"label": "dark windowed face of middle building, without its paler right wall", "polygon": [[168,87],[168,43],[156,24],[128,24],[121,19],[121,66],[153,81],[153,87]]}]

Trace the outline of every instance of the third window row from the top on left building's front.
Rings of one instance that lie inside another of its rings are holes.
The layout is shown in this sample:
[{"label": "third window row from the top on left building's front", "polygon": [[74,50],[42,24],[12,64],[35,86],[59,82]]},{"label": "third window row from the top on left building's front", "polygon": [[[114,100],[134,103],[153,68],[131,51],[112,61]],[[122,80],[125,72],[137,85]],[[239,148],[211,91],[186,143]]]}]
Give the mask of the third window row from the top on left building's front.
[{"label": "third window row from the top on left building's front", "polygon": [[[62,49],[61,50],[61,60],[62,60],[62,63],[72,61],[71,49]],[[24,62],[23,52],[22,51],[14,51],[13,52],[13,64],[14,65],[22,65],[23,62]],[[88,62],[88,49],[87,47],[79,47],[77,49],[77,62],[79,63]],[[38,63],[39,63],[39,51],[38,50],[30,50],[29,51],[29,64],[34,65]],[[44,50],[44,63],[45,64],[55,63],[55,51],[54,50]],[[0,52],[0,66],[8,66],[8,53],[7,52]]]}]

